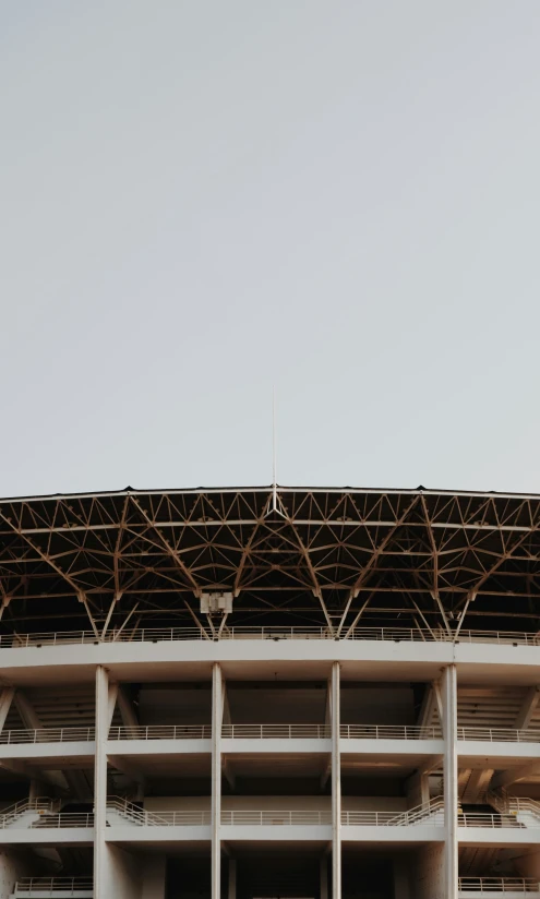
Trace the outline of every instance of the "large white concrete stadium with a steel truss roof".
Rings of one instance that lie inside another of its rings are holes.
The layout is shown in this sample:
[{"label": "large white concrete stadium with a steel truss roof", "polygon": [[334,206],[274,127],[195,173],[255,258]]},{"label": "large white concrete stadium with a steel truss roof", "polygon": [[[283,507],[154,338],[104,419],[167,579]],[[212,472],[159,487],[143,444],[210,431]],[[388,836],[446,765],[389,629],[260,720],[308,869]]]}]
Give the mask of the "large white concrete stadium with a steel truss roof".
[{"label": "large white concrete stadium with a steel truss roof", "polygon": [[540,496],[0,500],[0,899],[540,899]]}]

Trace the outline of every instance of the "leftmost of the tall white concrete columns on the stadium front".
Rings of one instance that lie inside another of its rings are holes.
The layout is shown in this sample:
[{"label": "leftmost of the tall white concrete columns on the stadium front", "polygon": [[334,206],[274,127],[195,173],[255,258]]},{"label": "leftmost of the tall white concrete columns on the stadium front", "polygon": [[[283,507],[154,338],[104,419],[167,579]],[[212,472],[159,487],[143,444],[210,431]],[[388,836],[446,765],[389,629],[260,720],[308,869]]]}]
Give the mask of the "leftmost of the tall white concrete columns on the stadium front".
[{"label": "leftmost of the tall white concrete columns on the stadium front", "polygon": [[[115,697],[116,698],[116,697]],[[105,832],[107,815],[107,753],[109,730],[109,676],[107,669],[96,669],[96,756],[94,768],[94,899],[107,896]]]}]

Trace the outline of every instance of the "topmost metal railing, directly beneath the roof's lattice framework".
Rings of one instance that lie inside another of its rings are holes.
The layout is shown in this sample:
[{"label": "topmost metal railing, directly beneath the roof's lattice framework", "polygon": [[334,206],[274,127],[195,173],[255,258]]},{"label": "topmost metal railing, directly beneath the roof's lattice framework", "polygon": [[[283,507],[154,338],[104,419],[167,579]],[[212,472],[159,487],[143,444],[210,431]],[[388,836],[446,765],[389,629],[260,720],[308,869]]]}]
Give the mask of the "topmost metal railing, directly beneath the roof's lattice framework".
[{"label": "topmost metal railing, directly beneath the roof's lattice framework", "polygon": [[[170,643],[177,640],[208,640],[212,635],[202,627],[140,627],[111,628],[105,635],[94,631],[57,631],[36,634],[2,634],[0,649],[19,647],[61,646],[101,643]],[[214,639],[351,639],[387,640],[394,643],[453,643],[455,636],[443,628],[420,627],[355,627],[339,637],[328,627],[224,627]],[[489,643],[509,646],[540,646],[540,634],[514,631],[461,630],[456,643]]]}]

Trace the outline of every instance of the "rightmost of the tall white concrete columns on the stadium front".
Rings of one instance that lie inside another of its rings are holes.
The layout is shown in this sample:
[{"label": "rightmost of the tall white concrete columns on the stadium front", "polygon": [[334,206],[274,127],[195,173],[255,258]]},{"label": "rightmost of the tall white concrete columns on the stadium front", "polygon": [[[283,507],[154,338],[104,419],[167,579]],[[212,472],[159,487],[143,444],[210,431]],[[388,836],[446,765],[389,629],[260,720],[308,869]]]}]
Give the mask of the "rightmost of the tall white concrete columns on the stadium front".
[{"label": "rightmost of the tall white concrete columns on the stadium front", "polygon": [[457,679],[456,666],[443,670],[441,698],[443,705],[444,738],[444,823],[446,843],[444,851],[444,896],[457,897]]}]

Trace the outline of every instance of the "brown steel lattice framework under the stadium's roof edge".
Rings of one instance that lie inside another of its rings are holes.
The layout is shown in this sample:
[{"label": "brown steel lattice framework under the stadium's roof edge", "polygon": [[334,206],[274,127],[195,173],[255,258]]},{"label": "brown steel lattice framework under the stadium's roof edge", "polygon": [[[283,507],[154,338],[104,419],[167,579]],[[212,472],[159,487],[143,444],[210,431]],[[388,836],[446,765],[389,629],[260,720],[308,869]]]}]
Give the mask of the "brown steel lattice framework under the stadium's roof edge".
[{"label": "brown steel lattice framework under the stadium's roof edge", "polygon": [[540,496],[253,488],[0,501],[2,628],[131,621],[536,632]]}]

